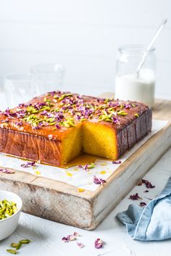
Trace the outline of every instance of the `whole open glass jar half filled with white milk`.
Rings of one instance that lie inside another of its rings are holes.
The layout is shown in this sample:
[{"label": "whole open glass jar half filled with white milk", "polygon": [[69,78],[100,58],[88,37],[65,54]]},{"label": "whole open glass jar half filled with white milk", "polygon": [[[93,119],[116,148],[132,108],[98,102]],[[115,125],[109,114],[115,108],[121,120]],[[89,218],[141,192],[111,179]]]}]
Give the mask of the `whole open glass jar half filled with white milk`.
[{"label": "whole open glass jar half filled with white milk", "polygon": [[[146,60],[137,75],[144,54]],[[143,102],[153,107],[156,62],[154,48],[146,52],[145,46],[122,46],[117,56],[115,98]]]}]

